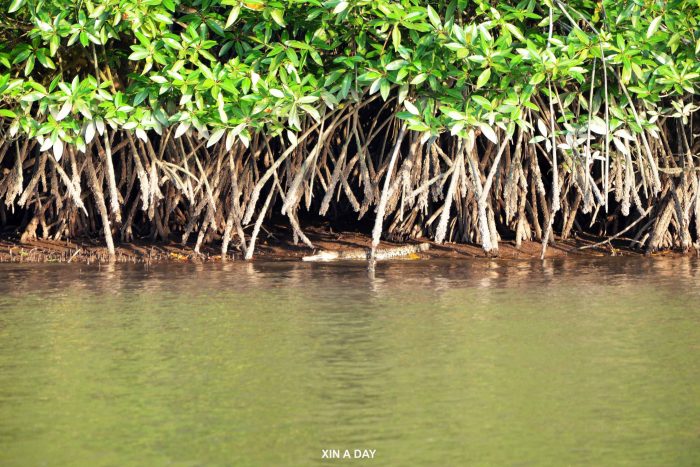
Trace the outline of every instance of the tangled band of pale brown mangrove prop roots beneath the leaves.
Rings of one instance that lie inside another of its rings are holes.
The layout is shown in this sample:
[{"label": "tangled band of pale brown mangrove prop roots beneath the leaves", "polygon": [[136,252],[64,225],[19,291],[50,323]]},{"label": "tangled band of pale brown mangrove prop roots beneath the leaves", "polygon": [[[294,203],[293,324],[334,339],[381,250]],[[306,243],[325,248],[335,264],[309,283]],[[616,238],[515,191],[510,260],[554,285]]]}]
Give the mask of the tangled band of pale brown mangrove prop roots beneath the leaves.
[{"label": "tangled band of pale brown mangrove prop roots beneath the leaves", "polygon": [[67,145],[60,159],[21,136],[8,139],[0,124],[0,221],[25,241],[38,231],[53,239],[99,233],[112,254],[113,232],[121,241],[179,236],[197,251],[221,242],[222,257],[233,244],[247,259],[280,214],[310,249],[302,219],[374,214],[377,257],[382,237],[477,242],[487,255],[497,255],[501,239],[537,239],[544,249],[579,234],[647,253],[700,246],[698,133],[671,117],[646,142],[626,130],[610,147],[608,174],[601,156],[587,153],[608,138],[565,140],[562,121],[550,117],[555,107],[539,101],[545,119],[528,113],[534,130],[511,136],[426,136],[396,118],[395,100],[366,99],[308,119],[291,142],[261,133],[248,145],[223,138],[207,147],[191,133],[137,138],[105,129],[83,152]]}]

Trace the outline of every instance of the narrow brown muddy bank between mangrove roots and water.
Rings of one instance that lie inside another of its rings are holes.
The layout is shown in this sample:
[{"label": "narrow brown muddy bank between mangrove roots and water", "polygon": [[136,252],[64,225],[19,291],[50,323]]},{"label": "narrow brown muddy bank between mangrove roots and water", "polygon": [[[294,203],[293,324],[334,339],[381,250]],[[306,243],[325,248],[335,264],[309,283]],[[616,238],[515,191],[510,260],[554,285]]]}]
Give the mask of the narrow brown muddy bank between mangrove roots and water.
[{"label": "narrow brown muddy bank between mangrove roots and water", "polygon": [[[315,252],[349,251],[369,248],[371,236],[358,232],[333,232],[324,228],[309,228],[306,233],[316,247],[312,250],[303,244],[294,245],[291,233],[286,229],[268,232],[256,245],[256,252],[251,261],[301,261],[303,256]],[[581,238],[556,241],[547,246],[546,259],[551,258],[591,258],[614,256],[645,256],[643,252],[629,248],[617,248],[610,243],[591,248],[600,240]],[[499,243],[498,255],[487,256],[481,246],[463,243],[437,244],[427,239],[414,239],[405,243],[382,241],[379,248],[391,248],[405,244],[427,242],[430,249],[421,253],[419,260],[431,259],[506,259],[533,260],[540,259],[542,244],[536,241],[523,242],[520,248],[512,241]],[[203,246],[199,253],[192,245],[182,245],[171,241],[152,242],[136,241],[115,245],[117,263],[209,263],[222,262],[221,250],[214,246]],[[584,249],[582,249],[584,248]],[[662,257],[695,256],[698,251],[691,249],[684,253],[677,250],[661,250],[652,255]],[[244,261],[243,254],[233,248],[223,261]],[[18,239],[0,237],[0,263],[108,263],[109,254],[102,241],[94,239],[74,239],[71,241],[35,240],[21,243]]]}]

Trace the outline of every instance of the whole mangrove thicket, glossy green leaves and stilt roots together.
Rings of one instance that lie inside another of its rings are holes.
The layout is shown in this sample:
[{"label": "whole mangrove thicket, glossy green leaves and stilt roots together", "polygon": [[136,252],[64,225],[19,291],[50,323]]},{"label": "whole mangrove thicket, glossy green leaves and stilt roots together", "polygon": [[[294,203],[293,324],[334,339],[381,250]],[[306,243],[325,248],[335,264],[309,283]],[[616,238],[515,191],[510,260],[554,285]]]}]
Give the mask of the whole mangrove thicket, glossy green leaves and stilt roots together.
[{"label": "whole mangrove thicket, glossy green leaves and stilt roots together", "polygon": [[390,231],[487,252],[506,231],[546,244],[562,206],[562,235],[579,209],[611,235],[609,193],[617,215],[655,209],[652,249],[687,248],[698,221],[700,0],[0,4],[0,154],[18,160],[0,196],[89,217],[84,173],[106,237],[139,203],[153,235],[186,212],[185,240],[236,227],[245,250],[279,200],[308,243],[302,192],[322,213],[336,192],[375,206],[376,241],[393,214]]}]

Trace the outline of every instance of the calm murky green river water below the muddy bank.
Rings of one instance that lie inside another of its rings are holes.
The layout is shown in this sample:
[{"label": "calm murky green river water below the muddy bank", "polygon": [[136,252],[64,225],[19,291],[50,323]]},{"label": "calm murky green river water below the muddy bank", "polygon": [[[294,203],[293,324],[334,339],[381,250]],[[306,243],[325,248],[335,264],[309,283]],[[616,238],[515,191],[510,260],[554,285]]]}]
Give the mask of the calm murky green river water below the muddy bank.
[{"label": "calm murky green river water below the muddy bank", "polygon": [[698,465],[699,285],[694,259],[0,265],[0,465]]}]

